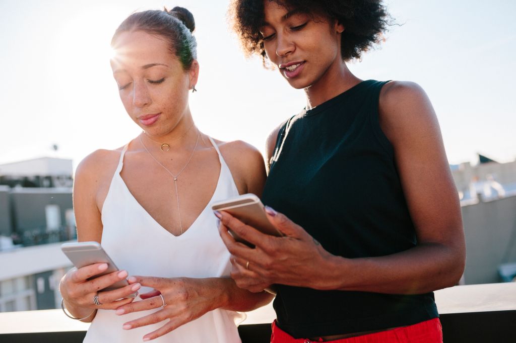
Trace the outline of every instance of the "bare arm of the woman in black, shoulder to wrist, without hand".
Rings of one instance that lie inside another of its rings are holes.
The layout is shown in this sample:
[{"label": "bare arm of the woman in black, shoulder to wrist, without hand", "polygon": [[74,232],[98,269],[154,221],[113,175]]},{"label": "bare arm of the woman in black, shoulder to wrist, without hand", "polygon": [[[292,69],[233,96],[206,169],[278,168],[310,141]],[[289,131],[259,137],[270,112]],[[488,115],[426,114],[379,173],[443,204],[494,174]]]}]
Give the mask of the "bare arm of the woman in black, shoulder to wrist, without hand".
[{"label": "bare arm of the woman in black, shoulder to wrist, without hand", "polygon": [[342,272],[335,276],[345,281],[334,286],[404,294],[453,286],[464,271],[464,233],[457,191],[430,100],[417,84],[386,84],[380,95],[380,125],[394,148],[417,246],[382,258],[345,263],[333,259],[333,270],[348,269],[346,278]]}]

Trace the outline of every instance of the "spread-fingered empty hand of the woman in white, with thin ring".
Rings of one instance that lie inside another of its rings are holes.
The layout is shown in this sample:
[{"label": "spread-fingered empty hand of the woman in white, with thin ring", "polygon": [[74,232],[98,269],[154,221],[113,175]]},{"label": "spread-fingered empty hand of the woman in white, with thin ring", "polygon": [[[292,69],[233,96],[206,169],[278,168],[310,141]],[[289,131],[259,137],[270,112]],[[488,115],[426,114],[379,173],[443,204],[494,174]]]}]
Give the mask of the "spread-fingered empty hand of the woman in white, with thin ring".
[{"label": "spread-fingered empty hand of the woman in white, with thin ring", "polygon": [[[143,340],[151,340],[163,336],[181,325],[195,320],[208,311],[220,307],[220,284],[218,278],[156,278],[132,276],[130,283],[140,283],[142,286],[153,287],[149,293],[140,294],[140,301],[120,306],[117,315],[152,310],[162,307],[150,315],[124,323],[123,329],[130,330],[155,324],[169,319],[161,328],[143,336]],[[160,295],[163,296],[160,297]],[[163,302],[165,301],[165,306]]]}]

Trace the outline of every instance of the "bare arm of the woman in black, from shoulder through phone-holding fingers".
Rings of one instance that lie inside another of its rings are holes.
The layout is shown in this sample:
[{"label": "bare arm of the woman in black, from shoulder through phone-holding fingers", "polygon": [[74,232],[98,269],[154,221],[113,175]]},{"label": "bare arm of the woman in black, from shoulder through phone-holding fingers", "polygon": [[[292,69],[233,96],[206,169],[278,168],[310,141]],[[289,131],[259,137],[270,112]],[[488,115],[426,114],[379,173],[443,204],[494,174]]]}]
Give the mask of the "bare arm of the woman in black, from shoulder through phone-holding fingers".
[{"label": "bare arm of the woman in black, from shoulder through phone-holding fingers", "polygon": [[[464,269],[464,234],[436,116],[417,85],[396,82],[384,88],[381,126],[394,147],[416,247],[389,256],[346,259],[328,253],[303,228],[273,210],[268,211],[269,220],[286,237],[263,235],[222,213],[220,232],[235,256],[233,277],[239,286],[256,291],[256,284],[280,283],[421,294],[457,283]],[[227,227],[257,248],[234,242]],[[251,261],[251,270],[243,267],[246,261]]]}]

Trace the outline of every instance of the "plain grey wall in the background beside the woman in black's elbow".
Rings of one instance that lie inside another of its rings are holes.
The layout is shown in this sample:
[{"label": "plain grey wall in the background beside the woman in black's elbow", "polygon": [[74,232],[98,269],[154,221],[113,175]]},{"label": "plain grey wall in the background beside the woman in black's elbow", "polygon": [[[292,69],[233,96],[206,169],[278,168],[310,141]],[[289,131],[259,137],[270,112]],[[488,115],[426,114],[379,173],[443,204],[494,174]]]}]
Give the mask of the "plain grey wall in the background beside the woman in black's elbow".
[{"label": "plain grey wall in the background beside the woman in black's elbow", "polygon": [[516,262],[516,196],[462,207],[466,284],[498,282],[498,265]]}]

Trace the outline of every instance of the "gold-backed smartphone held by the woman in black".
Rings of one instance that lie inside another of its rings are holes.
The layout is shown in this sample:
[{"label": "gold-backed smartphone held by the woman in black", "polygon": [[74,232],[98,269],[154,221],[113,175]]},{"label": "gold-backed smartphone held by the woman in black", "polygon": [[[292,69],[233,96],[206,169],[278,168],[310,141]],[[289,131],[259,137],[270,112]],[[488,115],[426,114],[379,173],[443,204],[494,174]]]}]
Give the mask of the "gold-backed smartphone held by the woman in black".
[{"label": "gold-backed smartphone held by the woman in black", "polygon": [[[265,214],[263,203],[260,201],[260,198],[254,194],[243,194],[237,197],[216,201],[212,204],[212,209],[214,211],[228,212],[244,224],[252,226],[262,233],[278,237],[283,236],[281,231],[270,224]],[[235,241],[253,247],[252,244],[245,241],[245,239],[238,236],[231,229],[229,229],[229,232],[233,238],[235,238]]]}]

